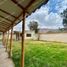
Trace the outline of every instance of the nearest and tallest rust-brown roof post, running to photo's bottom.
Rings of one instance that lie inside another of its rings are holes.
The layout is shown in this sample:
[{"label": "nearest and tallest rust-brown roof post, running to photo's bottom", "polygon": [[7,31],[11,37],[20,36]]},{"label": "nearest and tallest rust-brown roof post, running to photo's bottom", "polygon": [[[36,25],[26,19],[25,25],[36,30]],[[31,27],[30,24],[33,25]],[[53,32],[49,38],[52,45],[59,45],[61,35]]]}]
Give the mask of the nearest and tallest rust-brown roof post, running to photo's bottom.
[{"label": "nearest and tallest rust-brown roof post, running to photo's bottom", "polygon": [[25,33],[25,10],[23,11],[23,22],[22,22],[21,67],[24,67],[24,33]]}]

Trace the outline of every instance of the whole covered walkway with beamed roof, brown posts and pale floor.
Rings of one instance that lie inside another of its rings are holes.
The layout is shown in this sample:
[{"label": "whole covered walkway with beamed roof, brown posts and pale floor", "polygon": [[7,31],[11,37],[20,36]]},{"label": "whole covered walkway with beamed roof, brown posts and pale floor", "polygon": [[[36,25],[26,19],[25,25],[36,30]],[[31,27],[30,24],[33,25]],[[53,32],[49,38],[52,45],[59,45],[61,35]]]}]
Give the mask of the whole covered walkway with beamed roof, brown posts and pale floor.
[{"label": "whole covered walkway with beamed roof, brown posts and pale floor", "polygon": [[[48,0],[0,0],[0,32],[2,32],[2,47],[0,48],[0,54],[4,55],[1,58],[11,58],[12,56],[12,34],[13,27],[22,21],[22,39],[21,39],[21,67],[24,67],[24,32],[25,32],[25,18],[28,17],[41,5],[46,4]],[[9,39],[9,30],[11,30],[11,36]],[[6,37],[7,33],[7,37]],[[8,43],[10,41],[10,43]],[[9,48],[8,48],[9,46]],[[5,50],[6,49],[6,50]],[[6,51],[6,52],[5,52]],[[5,53],[4,53],[5,52]],[[8,54],[7,54],[8,53]],[[3,65],[0,67],[14,67],[11,59],[3,59]],[[8,62],[10,64],[8,65]],[[7,62],[7,63],[6,63]],[[8,65],[8,66],[5,66]],[[12,66],[11,66],[12,65]]]}]

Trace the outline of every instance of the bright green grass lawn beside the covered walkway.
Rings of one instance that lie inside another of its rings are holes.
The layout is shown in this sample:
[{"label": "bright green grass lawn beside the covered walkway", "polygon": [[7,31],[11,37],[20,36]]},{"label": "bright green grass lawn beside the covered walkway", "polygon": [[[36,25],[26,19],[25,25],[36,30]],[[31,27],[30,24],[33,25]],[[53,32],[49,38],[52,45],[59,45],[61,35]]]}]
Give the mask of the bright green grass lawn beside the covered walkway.
[{"label": "bright green grass lawn beside the covered walkway", "polygon": [[[13,61],[20,67],[20,42],[13,43]],[[67,44],[56,42],[26,41],[25,67],[67,67]]]}]

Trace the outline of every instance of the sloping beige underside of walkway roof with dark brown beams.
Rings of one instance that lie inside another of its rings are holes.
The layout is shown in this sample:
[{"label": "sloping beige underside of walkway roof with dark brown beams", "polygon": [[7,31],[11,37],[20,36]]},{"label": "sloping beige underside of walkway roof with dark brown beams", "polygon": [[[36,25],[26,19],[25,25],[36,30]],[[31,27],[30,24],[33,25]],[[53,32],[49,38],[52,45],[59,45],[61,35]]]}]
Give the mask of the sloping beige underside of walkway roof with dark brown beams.
[{"label": "sloping beige underside of walkway roof with dark brown beams", "polygon": [[0,31],[6,32],[18,24],[23,19],[23,10],[28,15],[47,2],[48,0],[0,0]]}]

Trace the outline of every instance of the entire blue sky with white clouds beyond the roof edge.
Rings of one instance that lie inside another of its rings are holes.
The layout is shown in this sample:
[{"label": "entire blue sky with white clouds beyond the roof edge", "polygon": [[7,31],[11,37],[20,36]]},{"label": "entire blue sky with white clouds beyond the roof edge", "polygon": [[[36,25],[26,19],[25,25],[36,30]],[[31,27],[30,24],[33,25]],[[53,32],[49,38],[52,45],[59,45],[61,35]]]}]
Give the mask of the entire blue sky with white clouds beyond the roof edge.
[{"label": "entire blue sky with white clouds beyond the roof edge", "polygon": [[[39,24],[39,28],[63,28],[63,18],[60,13],[67,8],[67,0],[49,0],[46,5],[37,9],[29,17],[26,18],[26,29],[30,21],[35,20]],[[21,23],[14,27],[14,30],[21,30]]]}]

